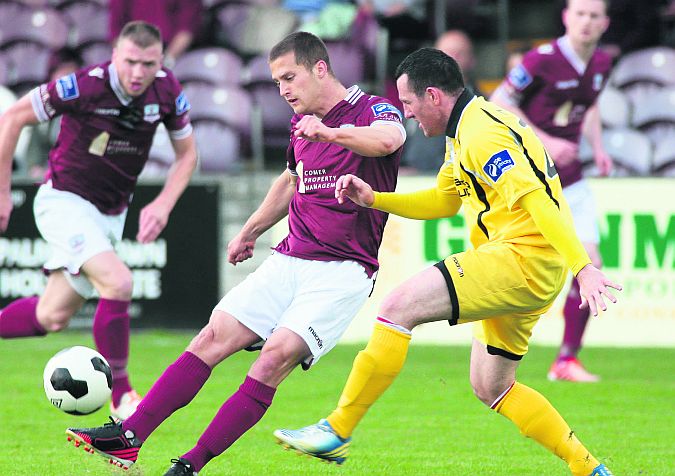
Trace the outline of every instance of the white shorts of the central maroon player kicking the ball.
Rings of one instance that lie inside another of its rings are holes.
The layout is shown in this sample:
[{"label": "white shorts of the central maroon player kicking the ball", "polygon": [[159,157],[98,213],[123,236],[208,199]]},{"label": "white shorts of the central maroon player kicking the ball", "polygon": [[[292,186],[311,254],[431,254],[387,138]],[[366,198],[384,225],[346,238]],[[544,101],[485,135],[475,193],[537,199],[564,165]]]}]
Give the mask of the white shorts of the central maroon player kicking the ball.
[{"label": "white shorts of the central maroon player kicking the ball", "polygon": [[[285,327],[298,334],[316,363],[335,347],[373,289],[355,261],[313,261],[273,253],[216,305],[263,341]],[[256,346],[258,348],[258,346]]]}]

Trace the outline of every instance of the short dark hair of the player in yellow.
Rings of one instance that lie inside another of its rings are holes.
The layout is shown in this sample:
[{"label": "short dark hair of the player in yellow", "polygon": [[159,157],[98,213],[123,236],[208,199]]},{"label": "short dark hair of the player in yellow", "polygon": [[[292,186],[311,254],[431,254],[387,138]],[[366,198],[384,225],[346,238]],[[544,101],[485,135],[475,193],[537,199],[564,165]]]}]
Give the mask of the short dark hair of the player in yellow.
[{"label": "short dark hair of the player in yellow", "polygon": [[395,79],[408,75],[408,85],[417,97],[428,87],[438,88],[451,96],[464,89],[462,71],[452,57],[436,48],[420,48],[405,57],[396,68]]}]

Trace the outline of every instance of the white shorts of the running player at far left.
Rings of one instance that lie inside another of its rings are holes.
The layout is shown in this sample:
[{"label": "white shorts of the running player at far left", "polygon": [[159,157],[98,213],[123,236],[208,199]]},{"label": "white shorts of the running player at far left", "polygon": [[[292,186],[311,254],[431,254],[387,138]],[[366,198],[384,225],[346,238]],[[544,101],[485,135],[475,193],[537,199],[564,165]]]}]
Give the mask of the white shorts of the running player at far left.
[{"label": "white shorts of the running player at far left", "polygon": [[114,249],[122,239],[126,210],[104,215],[91,202],[72,192],[40,186],[33,203],[35,224],[50,247],[47,271],[63,269],[73,289],[83,298],[94,293],[82,265],[97,254]]}]

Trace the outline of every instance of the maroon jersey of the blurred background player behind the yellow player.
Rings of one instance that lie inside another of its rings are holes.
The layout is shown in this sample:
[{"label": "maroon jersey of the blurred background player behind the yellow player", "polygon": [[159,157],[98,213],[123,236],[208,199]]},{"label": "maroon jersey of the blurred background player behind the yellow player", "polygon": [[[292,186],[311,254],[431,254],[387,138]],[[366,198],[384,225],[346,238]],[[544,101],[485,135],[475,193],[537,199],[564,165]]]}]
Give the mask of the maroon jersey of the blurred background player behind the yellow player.
[{"label": "maroon jersey of the blurred background player behind the yellow player", "polygon": [[[506,86],[513,88],[518,107],[537,127],[578,143],[584,115],[607,81],[611,64],[599,49],[585,64],[563,36],[527,52],[507,76]],[[563,186],[581,180],[579,160],[556,167]]]}]

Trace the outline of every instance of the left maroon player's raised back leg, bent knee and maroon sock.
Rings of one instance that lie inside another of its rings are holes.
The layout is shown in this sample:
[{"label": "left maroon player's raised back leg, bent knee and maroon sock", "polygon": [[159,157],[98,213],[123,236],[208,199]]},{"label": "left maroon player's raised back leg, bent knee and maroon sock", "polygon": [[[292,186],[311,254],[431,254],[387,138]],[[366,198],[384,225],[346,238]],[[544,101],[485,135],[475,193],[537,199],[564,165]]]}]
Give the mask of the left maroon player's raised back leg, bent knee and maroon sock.
[{"label": "left maroon player's raised back leg, bent knee and maroon sock", "polygon": [[84,303],[68,281],[65,271],[52,272],[42,296],[21,298],[0,311],[0,337],[43,336],[58,332]]}]

